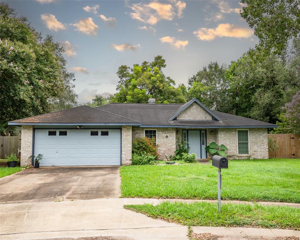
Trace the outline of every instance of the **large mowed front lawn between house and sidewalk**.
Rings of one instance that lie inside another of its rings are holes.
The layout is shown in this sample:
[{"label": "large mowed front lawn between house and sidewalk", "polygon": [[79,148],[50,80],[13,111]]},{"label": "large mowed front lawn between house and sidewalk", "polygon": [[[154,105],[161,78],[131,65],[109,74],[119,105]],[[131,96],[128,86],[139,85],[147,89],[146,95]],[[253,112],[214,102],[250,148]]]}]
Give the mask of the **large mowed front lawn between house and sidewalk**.
[{"label": "large mowed front lawn between house and sidewalk", "polygon": [[[211,164],[121,167],[122,197],[217,199]],[[229,160],[222,199],[300,203],[299,159]]]}]

